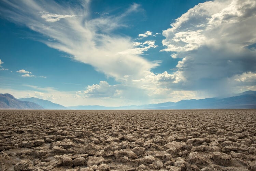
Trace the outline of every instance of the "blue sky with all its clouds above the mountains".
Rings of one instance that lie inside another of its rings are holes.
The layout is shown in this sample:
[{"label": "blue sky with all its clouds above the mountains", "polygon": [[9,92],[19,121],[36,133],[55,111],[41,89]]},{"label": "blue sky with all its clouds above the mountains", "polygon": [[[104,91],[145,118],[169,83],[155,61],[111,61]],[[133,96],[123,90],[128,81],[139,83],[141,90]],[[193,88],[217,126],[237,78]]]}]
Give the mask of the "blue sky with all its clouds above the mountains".
[{"label": "blue sky with all its clouds above the mountains", "polygon": [[0,93],[124,106],[256,90],[255,0],[2,0]]}]

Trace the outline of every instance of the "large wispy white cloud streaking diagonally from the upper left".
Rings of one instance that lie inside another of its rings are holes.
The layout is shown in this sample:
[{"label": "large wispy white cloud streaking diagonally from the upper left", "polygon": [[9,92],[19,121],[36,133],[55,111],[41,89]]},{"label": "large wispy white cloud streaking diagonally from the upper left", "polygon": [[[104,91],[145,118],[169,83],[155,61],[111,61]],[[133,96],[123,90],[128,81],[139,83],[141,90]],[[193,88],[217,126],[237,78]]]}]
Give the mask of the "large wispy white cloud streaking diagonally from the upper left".
[{"label": "large wispy white cloud streaking diagonally from the upper left", "polygon": [[[39,41],[71,54],[74,60],[87,63],[116,81],[122,81],[125,75],[138,79],[159,65],[158,62],[141,57],[139,55],[141,53],[138,52],[120,53],[132,49],[133,42],[130,37],[114,34],[113,31],[127,27],[126,17],[131,13],[139,12],[138,4],[132,4],[120,15],[91,18],[89,3],[87,1],[79,1],[79,3],[81,4],[62,6],[53,1],[45,5],[42,1],[26,3],[26,1],[13,0],[5,4],[8,5],[8,9],[3,11],[12,21],[24,24],[47,37]],[[73,17],[60,19],[60,15]],[[48,22],[45,19],[58,21]]]}]

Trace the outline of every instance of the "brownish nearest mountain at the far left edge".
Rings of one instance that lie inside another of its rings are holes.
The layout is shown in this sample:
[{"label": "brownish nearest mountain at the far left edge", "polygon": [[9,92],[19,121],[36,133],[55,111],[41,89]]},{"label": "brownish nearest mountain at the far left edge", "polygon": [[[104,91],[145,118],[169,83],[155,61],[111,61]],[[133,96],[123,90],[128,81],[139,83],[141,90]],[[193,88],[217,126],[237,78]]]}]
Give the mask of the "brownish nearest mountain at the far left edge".
[{"label": "brownish nearest mountain at the far left edge", "polygon": [[36,103],[19,101],[10,94],[0,94],[0,109],[43,109],[43,107]]}]

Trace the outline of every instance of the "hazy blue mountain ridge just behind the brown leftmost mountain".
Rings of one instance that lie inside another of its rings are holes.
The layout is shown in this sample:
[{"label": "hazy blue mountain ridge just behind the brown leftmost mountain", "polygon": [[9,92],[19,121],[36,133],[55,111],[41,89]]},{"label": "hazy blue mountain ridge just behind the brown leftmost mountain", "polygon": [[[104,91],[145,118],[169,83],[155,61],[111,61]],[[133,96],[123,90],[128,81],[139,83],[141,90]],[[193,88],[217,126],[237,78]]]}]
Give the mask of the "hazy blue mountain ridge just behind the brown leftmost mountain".
[{"label": "hazy blue mountain ridge just behind the brown leftmost mountain", "polygon": [[56,110],[68,109],[65,106],[62,106],[60,104],[53,103],[49,100],[43,100],[43,99],[35,98],[35,97],[22,98],[22,99],[18,99],[18,100],[20,100],[20,101],[29,101],[29,102],[36,103],[36,104],[42,106],[44,109],[56,109]]}]

